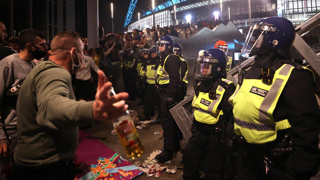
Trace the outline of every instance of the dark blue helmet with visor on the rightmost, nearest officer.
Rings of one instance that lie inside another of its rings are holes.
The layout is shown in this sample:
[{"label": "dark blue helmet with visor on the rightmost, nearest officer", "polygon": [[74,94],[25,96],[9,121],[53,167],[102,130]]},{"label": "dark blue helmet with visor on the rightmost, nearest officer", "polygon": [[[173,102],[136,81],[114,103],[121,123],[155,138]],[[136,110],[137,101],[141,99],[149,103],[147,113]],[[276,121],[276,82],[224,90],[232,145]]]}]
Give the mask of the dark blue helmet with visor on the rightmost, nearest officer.
[{"label": "dark blue helmet with visor on the rightmost, nearest officer", "polygon": [[290,51],[295,37],[293,24],[281,17],[260,20],[250,27],[241,55],[251,57],[268,50]]}]

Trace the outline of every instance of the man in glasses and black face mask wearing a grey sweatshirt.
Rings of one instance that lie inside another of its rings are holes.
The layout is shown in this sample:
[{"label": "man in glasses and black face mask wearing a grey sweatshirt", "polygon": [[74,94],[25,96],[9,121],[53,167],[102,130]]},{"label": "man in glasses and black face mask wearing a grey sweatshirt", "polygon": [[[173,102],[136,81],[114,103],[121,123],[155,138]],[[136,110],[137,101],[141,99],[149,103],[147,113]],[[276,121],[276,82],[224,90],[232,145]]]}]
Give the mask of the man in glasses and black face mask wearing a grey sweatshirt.
[{"label": "man in glasses and black face mask wearing a grey sweatshirt", "polygon": [[19,42],[20,53],[0,61],[0,152],[4,156],[17,146],[16,105],[21,84],[36,65],[33,59],[44,57],[47,49],[44,34],[34,29],[21,31]]}]

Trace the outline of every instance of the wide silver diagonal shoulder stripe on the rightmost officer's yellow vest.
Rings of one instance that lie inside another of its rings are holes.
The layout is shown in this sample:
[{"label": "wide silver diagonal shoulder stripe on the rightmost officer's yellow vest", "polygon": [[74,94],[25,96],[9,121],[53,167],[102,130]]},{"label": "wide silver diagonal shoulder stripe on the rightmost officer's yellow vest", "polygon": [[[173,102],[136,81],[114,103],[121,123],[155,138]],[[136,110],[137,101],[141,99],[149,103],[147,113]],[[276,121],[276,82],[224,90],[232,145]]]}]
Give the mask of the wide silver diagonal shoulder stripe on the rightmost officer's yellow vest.
[{"label": "wide silver diagonal shoulder stripe on the rightmost officer's yellow vest", "polygon": [[[292,65],[290,64],[284,65],[284,67],[280,70],[279,75],[287,76],[291,68],[292,68]],[[280,87],[283,82],[284,82],[283,79],[276,79],[275,82],[272,83],[268,94],[263,99],[261,106],[259,108],[259,122],[264,124],[270,124],[270,120],[268,118],[268,110],[270,109],[272,103],[274,102],[276,95],[278,94],[278,91],[280,90]]]}]

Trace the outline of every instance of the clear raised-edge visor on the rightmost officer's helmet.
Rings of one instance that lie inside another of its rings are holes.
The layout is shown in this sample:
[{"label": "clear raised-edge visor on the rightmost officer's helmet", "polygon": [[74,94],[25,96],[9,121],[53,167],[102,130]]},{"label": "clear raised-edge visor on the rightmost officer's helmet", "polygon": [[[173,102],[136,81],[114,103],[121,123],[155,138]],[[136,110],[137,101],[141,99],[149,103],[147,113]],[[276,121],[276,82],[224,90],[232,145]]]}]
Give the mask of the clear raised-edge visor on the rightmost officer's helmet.
[{"label": "clear raised-edge visor on the rightmost officer's helmet", "polygon": [[267,52],[268,42],[264,39],[267,31],[275,32],[276,28],[272,27],[270,24],[256,24],[250,27],[240,55],[249,58],[252,55]]}]

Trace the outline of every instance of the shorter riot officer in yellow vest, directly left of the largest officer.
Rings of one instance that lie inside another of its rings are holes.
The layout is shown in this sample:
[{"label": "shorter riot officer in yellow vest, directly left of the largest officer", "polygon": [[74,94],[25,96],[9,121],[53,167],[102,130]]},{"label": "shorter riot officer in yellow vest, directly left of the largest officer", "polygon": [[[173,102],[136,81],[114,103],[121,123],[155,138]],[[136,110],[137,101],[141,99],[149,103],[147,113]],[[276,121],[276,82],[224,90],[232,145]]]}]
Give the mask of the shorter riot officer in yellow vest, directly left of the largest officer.
[{"label": "shorter riot officer in yellow vest, directly left of the largest officer", "polygon": [[222,147],[225,128],[232,118],[228,99],[235,91],[233,82],[224,79],[227,57],[218,48],[207,49],[198,57],[195,78],[200,81],[192,101],[196,130],[188,141],[182,156],[183,179],[198,179],[200,162],[210,152],[211,166],[204,169],[212,179],[222,179],[224,153]]}]

